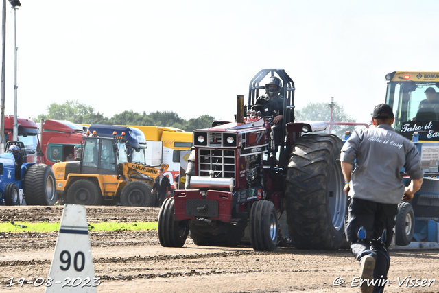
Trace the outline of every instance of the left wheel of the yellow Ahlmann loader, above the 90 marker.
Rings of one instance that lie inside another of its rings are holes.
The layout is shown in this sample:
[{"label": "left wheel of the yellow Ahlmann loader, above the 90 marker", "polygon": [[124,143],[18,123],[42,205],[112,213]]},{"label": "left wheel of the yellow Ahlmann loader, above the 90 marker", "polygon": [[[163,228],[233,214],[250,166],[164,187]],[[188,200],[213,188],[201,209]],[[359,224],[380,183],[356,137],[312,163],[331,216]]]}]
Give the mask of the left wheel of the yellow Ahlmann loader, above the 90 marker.
[{"label": "left wheel of the yellow Ahlmann loader, above the 90 marker", "polygon": [[69,204],[97,205],[102,202],[99,187],[92,180],[81,179],[75,181],[67,190]]}]

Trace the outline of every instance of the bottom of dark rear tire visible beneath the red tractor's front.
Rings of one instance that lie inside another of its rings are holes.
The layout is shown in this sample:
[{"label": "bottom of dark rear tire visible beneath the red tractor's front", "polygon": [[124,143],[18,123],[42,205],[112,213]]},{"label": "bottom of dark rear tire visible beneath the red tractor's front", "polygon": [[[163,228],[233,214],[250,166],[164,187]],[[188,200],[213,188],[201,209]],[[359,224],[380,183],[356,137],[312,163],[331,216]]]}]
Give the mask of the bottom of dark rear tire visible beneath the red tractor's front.
[{"label": "bottom of dark rear tire visible beneath the red tractor's front", "polygon": [[189,230],[195,245],[235,247],[244,237],[246,226],[247,223],[234,225],[220,221],[191,220]]}]

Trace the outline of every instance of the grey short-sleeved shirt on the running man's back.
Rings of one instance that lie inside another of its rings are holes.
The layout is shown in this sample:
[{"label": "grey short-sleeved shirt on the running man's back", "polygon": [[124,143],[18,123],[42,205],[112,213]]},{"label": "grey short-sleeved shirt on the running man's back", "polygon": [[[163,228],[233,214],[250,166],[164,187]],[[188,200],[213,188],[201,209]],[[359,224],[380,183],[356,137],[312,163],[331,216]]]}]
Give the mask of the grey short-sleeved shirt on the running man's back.
[{"label": "grey short-sleeved shirt on the running man's back", "polygon": [[349,196],[383,204],[399,204],[404,196],[405,172],[412,179],[423,178],[419,152],[405,137],[394,132],[392,126],[355,131],[344,143],[340,161],[353,164]]}]

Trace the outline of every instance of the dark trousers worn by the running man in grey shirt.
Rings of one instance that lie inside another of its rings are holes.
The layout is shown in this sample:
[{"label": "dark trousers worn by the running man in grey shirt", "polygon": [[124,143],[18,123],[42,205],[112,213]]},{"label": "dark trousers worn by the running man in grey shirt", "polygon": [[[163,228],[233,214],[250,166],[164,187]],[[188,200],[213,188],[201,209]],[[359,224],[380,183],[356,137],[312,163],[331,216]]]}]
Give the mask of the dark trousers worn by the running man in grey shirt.
[{"label": "dark trousers worn by the running man in grey shirt", "polygon": [[[352,198],[345,225],[346,236],[351,242],[351,252],[359,260],[364,255],[376,259],[373,279],[387,280],[390,266],[388,247],[392,243],[397,204],[381,204]],[[379,282],[383,284],[383,281]],[[383,292],[384,286],[375,286],[373,292]]]}]

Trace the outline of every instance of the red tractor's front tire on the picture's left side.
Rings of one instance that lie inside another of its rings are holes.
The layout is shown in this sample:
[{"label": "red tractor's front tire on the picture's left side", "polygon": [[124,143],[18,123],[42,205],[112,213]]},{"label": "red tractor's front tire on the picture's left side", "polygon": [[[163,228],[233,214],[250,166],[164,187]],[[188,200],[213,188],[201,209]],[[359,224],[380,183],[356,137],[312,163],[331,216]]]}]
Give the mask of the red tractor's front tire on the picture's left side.
[{"label": "red tractor's front tire on the picture's left side", "polygon": [[174,198],[166,198],[158,212],[158,240],[163,247],[182,247],[189,233],[188,221],[174,220]]}]

